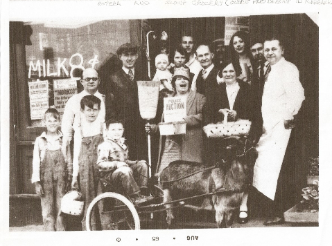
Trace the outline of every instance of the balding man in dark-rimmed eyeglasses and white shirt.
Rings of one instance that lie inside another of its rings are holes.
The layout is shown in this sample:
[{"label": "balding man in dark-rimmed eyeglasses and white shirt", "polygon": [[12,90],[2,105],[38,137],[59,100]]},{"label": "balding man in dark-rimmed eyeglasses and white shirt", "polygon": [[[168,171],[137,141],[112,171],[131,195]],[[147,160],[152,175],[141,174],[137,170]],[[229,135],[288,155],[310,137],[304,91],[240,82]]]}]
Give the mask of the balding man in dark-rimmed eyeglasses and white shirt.
[{"label": "balding man in dark-rimmed eyeglasses and white shirt", "polygon": [[[101,79],[94,68],[87,68],[83,71],[80,79],[80,83],[84,88],[83,91],[70,97],[66,106],[64,106],[61,124],[64,143],[69,144],[73,138],[74,131],[76,134],[78,126],[80,126],[80,100],[85,95],[95,95],[101,100],[101,111],[98,114],[97,120],[98,122],[105,122],[105,95],[98,92],[100,82]],[[74,138],[76,140],[77,136],[74,136]]]}]

